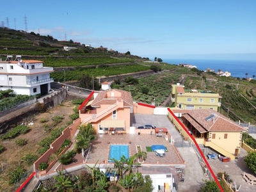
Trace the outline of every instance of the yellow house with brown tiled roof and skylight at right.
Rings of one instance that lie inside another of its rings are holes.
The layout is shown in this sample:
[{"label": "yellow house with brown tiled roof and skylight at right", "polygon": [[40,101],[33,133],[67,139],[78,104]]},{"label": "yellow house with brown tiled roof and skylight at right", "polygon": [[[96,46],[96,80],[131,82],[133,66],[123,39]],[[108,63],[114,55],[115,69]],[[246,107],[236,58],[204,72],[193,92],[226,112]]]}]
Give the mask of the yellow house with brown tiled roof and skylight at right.
[{"label": "yellow house with brown tiled roof and skylight at right", "polygon": [[[181,117],[181,124],[195,138],[196,143],[211,147],[222,156],[235,159],[240,153],[242,134],[246,131],[240,125],[212,109],[180,110],[173,114]],[[169,115],[170,116],[170,115]],[[172,116],[171,120],[172,120]],[[188,136],[182,125],[175,124],[182,134]]]}]

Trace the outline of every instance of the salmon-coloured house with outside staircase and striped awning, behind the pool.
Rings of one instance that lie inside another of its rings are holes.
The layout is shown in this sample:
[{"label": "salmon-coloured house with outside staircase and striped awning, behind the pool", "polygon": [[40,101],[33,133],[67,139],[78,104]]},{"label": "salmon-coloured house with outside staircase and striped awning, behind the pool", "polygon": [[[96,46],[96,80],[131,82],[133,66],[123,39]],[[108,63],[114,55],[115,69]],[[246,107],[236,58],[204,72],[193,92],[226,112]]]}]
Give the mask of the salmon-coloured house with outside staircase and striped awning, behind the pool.
[{"label": "salmon-coloured house with outside staircase and striped awning, behind the pool", "polygon": [[131,93],[116,89],[92,92],[79,107],[81,123],[91,124],[99,134],[129,132],[131,113]]}]

